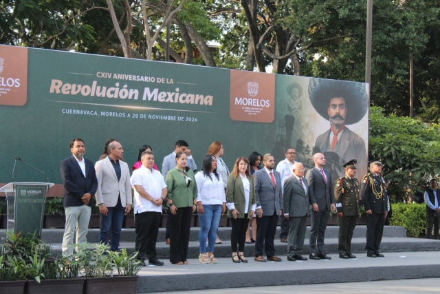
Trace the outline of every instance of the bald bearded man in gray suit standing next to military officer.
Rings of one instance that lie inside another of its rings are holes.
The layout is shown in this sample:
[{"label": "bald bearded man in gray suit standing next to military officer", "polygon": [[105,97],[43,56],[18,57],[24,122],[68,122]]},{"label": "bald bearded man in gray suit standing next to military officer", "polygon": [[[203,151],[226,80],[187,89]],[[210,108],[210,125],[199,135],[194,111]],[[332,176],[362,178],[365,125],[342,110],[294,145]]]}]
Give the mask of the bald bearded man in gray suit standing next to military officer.
[{"label": "bald bearded man in gray suit standing next to military officer", "polygon": [[309,258],[311,260],[331,260],[331,257],[324,253],[324,236],[330,211],[336,210],[335,194],[330,172],[324,169],[324,154],[315,154],[314,162],[315,167],[309,169],[305,175],[309,185],[309,202],[313,209],[311,212]]}]

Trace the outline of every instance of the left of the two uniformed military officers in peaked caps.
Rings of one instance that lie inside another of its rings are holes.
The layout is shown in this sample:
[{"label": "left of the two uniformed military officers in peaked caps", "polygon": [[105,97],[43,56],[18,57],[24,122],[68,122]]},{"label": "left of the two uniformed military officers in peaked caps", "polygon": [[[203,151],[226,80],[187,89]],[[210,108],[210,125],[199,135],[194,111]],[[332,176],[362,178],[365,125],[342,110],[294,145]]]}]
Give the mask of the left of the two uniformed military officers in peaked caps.
[{"label": "left of the two uniformed military officers in peaked caps", "polygon": [[347,162],[345,176],[338,178],[335,183],[336,210],[339,220],[339,258],[356,258],[351,254],[351,238],[359,215],[359,182],[356,176],[356,162]]}]

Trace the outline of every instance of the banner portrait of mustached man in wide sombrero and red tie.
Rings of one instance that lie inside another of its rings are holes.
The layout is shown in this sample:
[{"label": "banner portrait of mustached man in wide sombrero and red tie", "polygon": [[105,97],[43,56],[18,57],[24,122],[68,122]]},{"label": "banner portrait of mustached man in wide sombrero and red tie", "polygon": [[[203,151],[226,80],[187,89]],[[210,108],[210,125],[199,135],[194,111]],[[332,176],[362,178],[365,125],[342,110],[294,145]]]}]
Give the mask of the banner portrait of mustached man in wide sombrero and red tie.
[{"label": "banner portrait of mustached man in wide sombrero and red tie", "polygon": [[316,112],[330,123],[329,129],[316,138],[314,153],[320,151],[329,163],[338,165],[338,176],[344,175],[342,165],[353,158],[359,167],[366,167],[364,139],[347,127],[366,114],[369,100],[365,85],[313,78],[309,93]]}]

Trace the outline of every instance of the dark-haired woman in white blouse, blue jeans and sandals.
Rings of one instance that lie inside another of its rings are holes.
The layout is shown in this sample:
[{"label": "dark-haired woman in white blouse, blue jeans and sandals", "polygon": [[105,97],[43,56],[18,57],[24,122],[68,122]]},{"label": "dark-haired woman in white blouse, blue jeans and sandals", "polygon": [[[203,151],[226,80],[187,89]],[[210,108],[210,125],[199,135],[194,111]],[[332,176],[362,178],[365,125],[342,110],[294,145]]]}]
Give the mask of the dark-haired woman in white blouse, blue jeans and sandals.
[{"label": "dark-haired woman in white blouse, blue jeans and sandals", "polygon": [[[201,171],[195,175],[195,180],[199,192],[197,194],[200,220],[199,262],[217,263],[214,257],[215,238],[221,214],[226,210],[226,197],[223,180],[217,173],[217,159],[214,155],[205,156]],[[208,251],[206,251],[206,238],[208,238]]]}]

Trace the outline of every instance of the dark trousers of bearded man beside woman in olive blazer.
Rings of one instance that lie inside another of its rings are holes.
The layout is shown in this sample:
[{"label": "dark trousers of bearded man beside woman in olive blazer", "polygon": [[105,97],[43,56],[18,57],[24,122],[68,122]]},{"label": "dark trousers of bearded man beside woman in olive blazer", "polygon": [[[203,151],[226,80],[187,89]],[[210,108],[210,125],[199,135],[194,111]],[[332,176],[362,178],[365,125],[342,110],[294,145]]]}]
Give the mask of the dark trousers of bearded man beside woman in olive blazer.
[{"label": "dark trousers of bearded man beside woman in olive blazer", "polygon": [[255,256],[263,256],[263,246],[268,258],[275,255],[274,238],[278,224],[276,211],[272,216],[256,217]]}]

